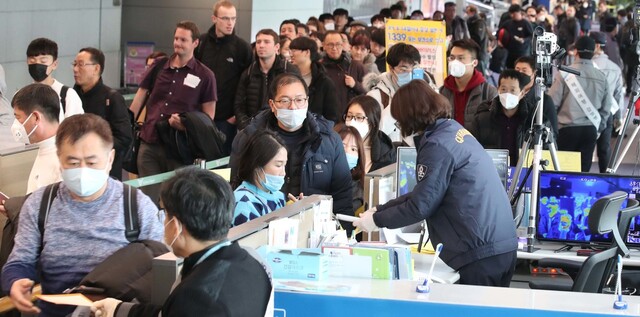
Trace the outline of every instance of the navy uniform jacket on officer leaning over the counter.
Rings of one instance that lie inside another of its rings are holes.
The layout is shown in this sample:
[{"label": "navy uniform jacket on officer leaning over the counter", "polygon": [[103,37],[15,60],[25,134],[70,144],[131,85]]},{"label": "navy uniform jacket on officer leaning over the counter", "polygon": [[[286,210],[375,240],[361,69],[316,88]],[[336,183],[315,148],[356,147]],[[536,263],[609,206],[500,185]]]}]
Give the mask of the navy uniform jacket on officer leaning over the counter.
[{"label": "navy uniform jacket on officer leaning over the counter", "polygon": [[[439,119],[418,144],[413,192],[378,206],[378,227],[427,220],[442,260],[454,270],[518,246],[511,206],[489,155],[455,120]],[[500,268],[502,270],[502,268]]]}]

